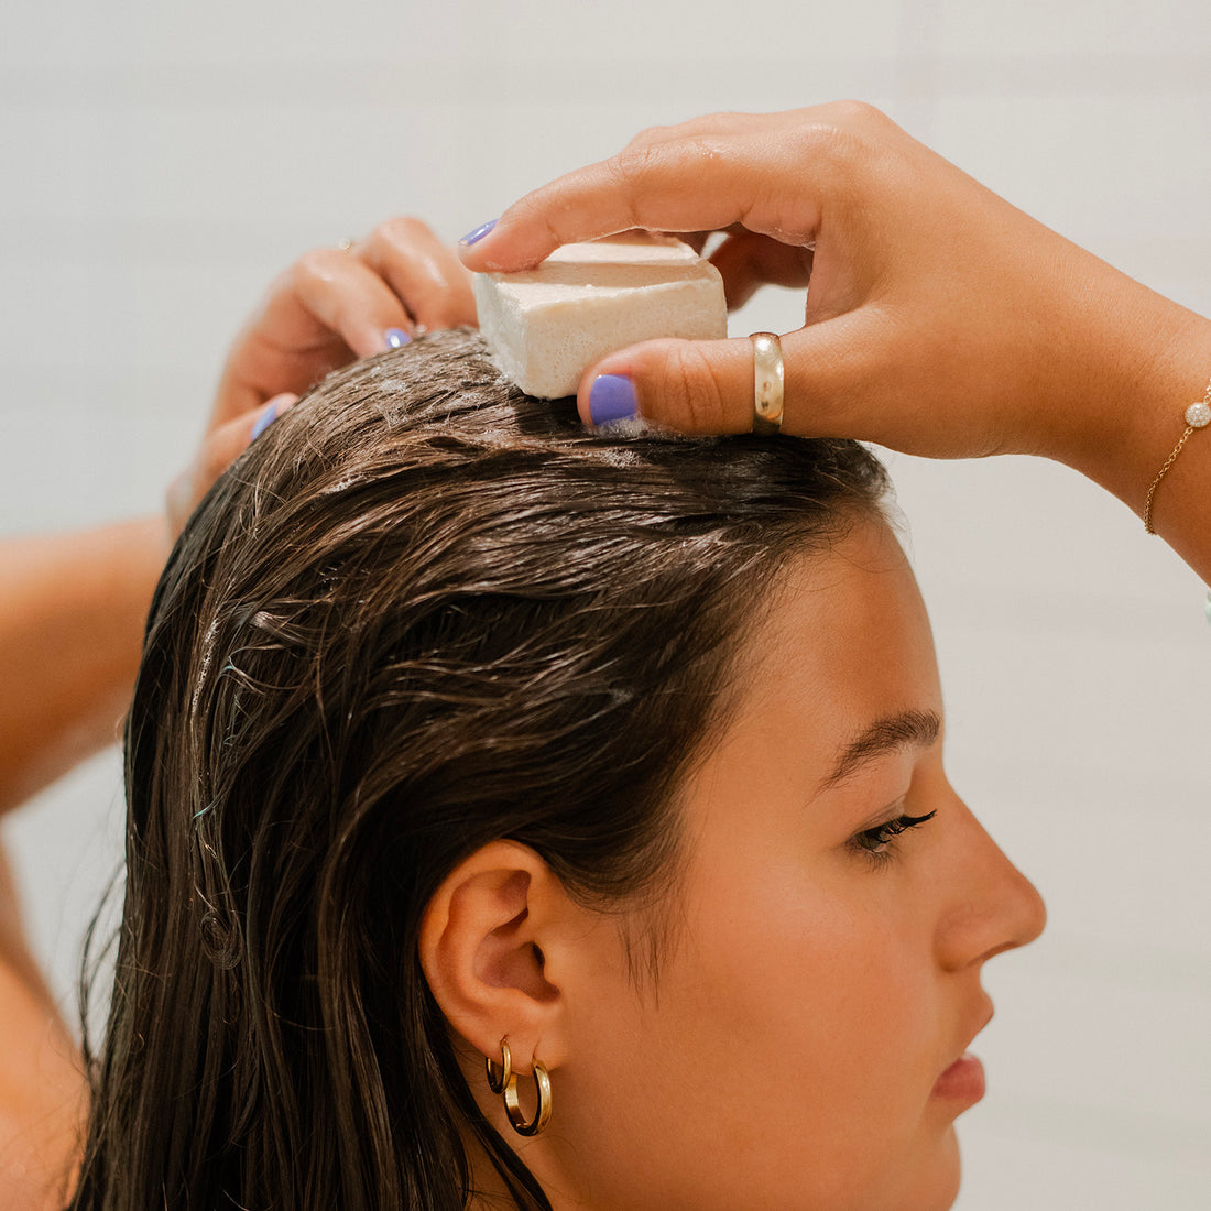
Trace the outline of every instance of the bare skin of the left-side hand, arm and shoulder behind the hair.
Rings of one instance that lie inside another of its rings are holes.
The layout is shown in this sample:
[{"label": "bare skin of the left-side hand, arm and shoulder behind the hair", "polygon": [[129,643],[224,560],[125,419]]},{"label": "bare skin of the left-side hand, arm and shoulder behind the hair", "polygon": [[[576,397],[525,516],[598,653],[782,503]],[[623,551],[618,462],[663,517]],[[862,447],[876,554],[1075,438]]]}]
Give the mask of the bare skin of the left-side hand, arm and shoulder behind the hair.
[{"label": "bare skin of the left-side hand, arm and shoulder behind the hair", "polygon": [[[285,409],[328,371],[388,348],[388,328],[475,318],[469,275],[417,219],[390,219],[348,251],[310,252],[271,285],[233,345],[165,513],[0,543],[0,816],[117,739],[172,540],[266,406]],[[0,1022],[0,1206],[59,1207],[85,1081],[30,954],[2,848]]]}]

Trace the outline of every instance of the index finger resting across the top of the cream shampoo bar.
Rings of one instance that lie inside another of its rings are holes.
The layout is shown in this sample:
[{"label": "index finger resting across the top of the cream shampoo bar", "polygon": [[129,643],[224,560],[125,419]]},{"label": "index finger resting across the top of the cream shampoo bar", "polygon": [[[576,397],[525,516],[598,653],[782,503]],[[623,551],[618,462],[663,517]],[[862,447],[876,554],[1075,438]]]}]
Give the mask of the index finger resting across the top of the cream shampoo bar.
[{"label": "index finger resting across the top of the cream shampoo bar", "polygon": [[513,271],[536,265],[561,243],[629,228],[706,231],[733,223],[805,245],[819,225],[819,182],[805,177],[802,163],[815,162],[810,144],[823,137],[822,128],[800,132],[794,161],[777,140],[731,134],[624,151],[528,194],[459,252],[469,269]]}]

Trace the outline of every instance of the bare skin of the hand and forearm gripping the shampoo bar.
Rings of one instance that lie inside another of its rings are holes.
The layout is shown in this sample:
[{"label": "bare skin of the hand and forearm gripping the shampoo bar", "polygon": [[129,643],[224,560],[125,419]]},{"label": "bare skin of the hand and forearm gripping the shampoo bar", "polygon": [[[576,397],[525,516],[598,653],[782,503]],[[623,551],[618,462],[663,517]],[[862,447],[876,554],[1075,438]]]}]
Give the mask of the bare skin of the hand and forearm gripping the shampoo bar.
[{"label": "bare skin of the hand and forearm gripping the shampoo bar", "polygon": [[[631,228],[723,231],[729,303],[805,287],[782,337],[784,432],[930,458],[1037,454],[1137,515],[1211,374],[1211,321],[1132,281],[985,189],[868,105],[714,114],[644,131],[544,185],[463,247],[475,270],[530,268],[557,245]],[[684,432],[752,425],[747,339],[658,340],[599,374]],[[1154,524],[1211,581],[1211,432],[1190,438]]]}]

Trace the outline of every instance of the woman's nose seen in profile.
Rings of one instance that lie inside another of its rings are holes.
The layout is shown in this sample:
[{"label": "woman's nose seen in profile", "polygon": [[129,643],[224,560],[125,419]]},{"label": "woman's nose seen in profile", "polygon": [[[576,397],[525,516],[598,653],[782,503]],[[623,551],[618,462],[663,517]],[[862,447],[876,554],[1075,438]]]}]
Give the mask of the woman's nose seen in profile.
[{"label": "woman's nose seen in profile", "polygon": [[1048,913],[1034,884],[1001,853],[962,800],[953,851],[939,888],[936,949],[947,970],[987,963],[994,954],[1033,942]]}]

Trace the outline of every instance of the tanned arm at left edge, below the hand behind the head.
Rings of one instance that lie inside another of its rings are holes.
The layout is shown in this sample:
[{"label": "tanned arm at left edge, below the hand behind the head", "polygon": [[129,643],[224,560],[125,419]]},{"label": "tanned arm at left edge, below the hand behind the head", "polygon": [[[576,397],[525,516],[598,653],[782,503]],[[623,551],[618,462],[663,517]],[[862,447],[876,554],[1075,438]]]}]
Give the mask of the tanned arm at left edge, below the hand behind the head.
[{"label": "tanned arm at left edge, below the hand behind the head", "polygon": [[0,543],[0,813],[116,737],[167,552],[161,517]]}]

